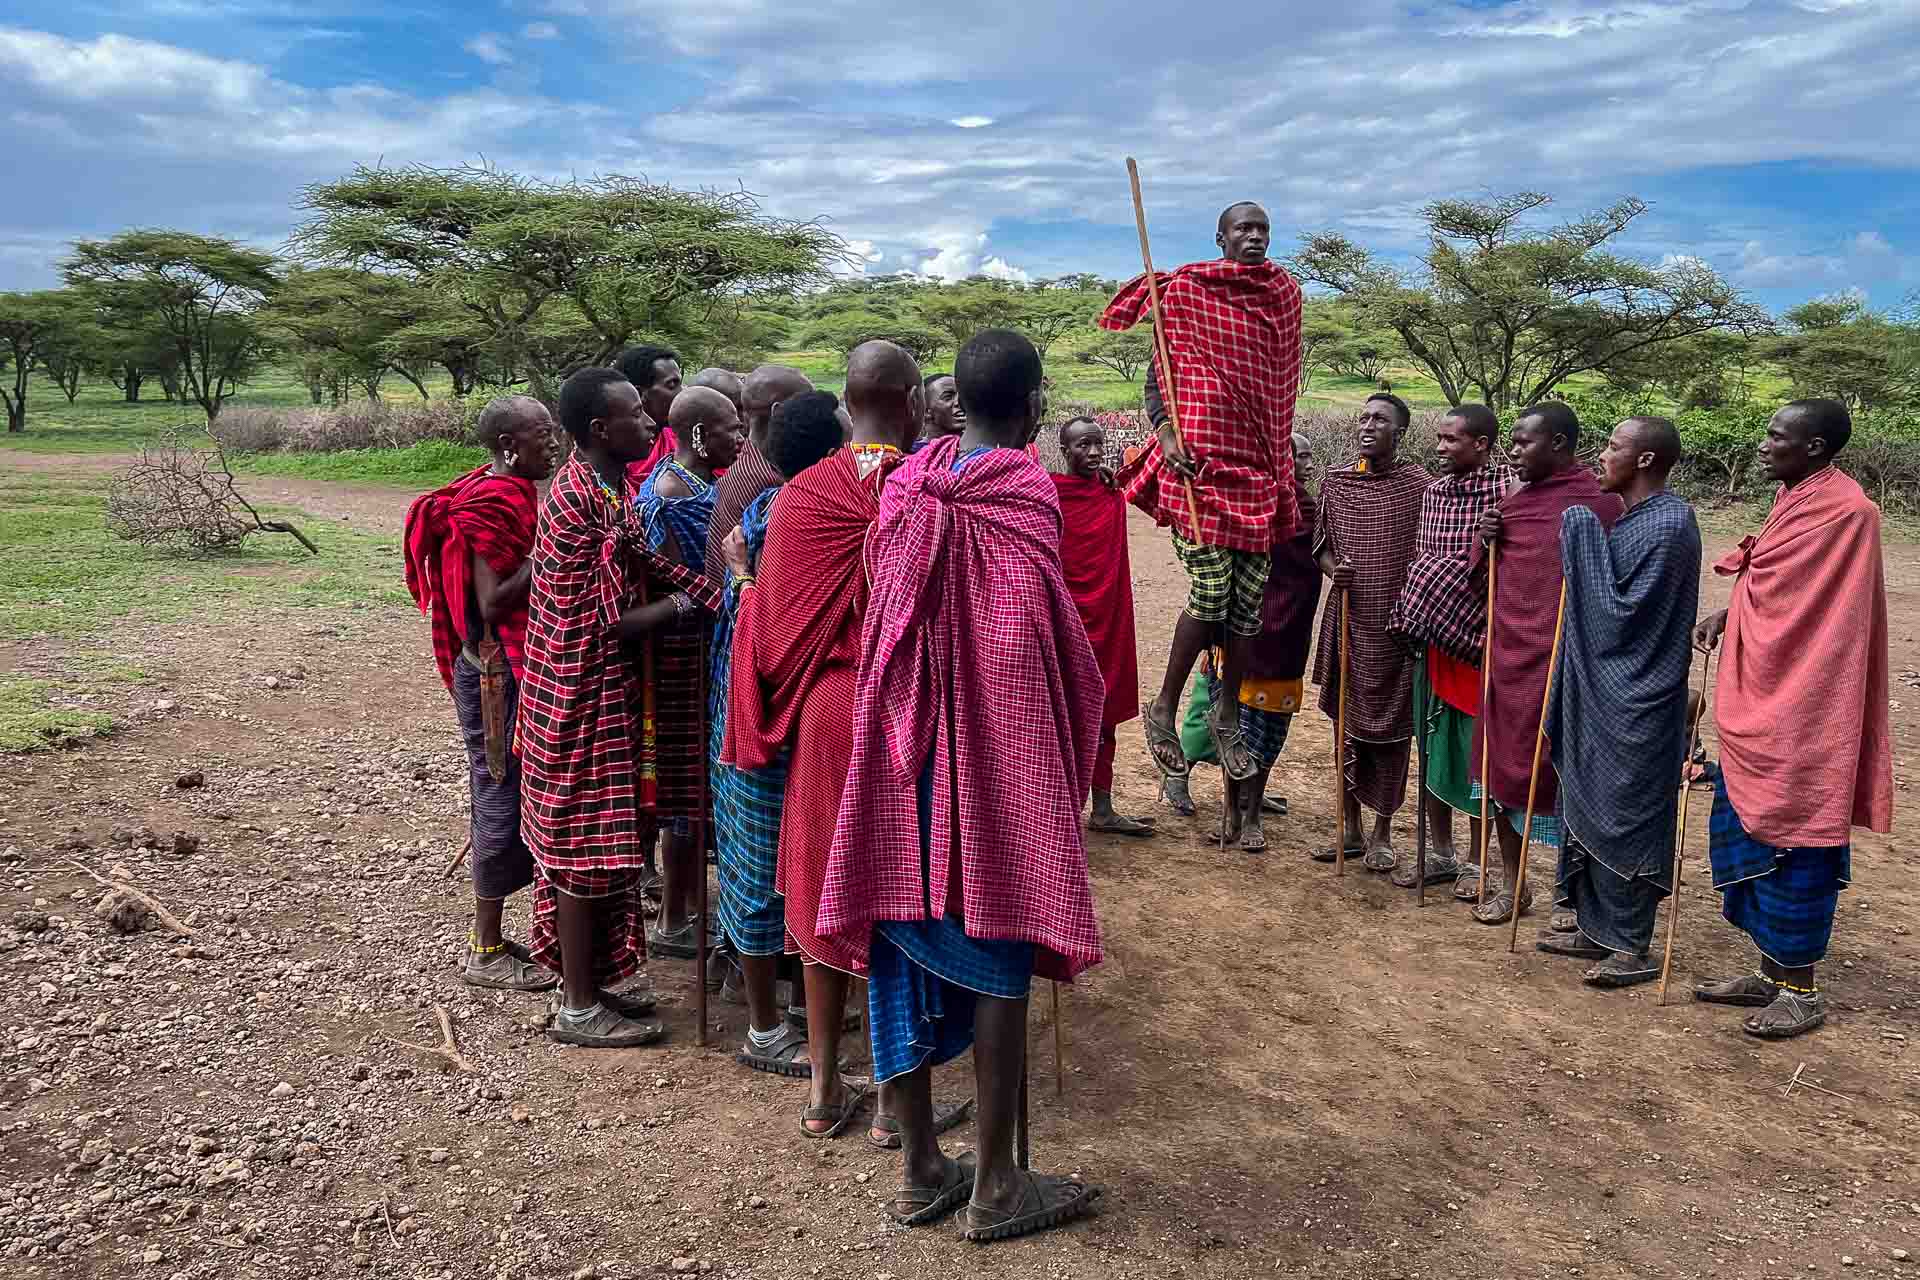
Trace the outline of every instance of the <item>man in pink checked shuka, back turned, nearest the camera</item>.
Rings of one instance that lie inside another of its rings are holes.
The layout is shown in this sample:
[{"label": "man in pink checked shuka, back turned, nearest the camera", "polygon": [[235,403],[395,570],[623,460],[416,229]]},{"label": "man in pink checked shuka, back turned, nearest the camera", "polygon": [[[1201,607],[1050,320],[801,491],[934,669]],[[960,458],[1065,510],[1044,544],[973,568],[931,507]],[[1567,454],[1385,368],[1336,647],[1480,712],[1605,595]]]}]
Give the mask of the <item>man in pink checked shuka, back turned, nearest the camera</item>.
[{"label": "man in pink checked shuka, back turned, nearest the camera", "polygon": [[[1079,812],[1106,679],[1060,568],[1054,484],[1025,453],[1039,353],[985,330],[954,382],[966,430],[900,464],[866,543],[852,764],[818,933],[868,969],[874,1079],[899,1103],[904,1155],[889,1213],[922,1226],[972,1197],[966,1236],[983,1242],[1100,1196],[1016,1167],[1014,1119],[1033,975],[1100,963]],[[970,1044],[977,1159],[948,1159],[931,1067]]]}]

